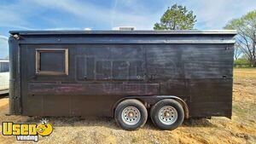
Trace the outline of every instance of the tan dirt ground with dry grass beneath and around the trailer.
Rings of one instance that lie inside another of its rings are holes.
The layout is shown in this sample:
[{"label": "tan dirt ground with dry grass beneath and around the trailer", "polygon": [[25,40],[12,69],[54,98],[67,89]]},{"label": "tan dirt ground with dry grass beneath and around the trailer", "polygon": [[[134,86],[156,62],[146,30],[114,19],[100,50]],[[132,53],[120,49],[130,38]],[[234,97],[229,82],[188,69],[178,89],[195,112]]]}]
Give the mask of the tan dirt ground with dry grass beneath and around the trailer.
[{"label": "tan dirt ground with dry grass beneath and around the trailer", "polygon": [[[0,122],[38,123],[41,118],[6,116],[7,97],[0,99]],[[233,116],[184,121],[177,130],[158,130],[148,120],[136,131],[121,130],[111,118],[48,118],[54,131],[39,137],[39,143],[256,143],[256,69],[234,71]],[[1,127],[2,131],[2,127]],[[15,143],[15,136],[0,137],[0,143]]]}]

